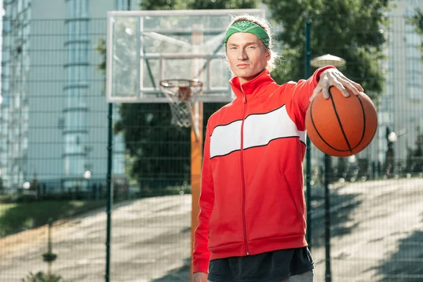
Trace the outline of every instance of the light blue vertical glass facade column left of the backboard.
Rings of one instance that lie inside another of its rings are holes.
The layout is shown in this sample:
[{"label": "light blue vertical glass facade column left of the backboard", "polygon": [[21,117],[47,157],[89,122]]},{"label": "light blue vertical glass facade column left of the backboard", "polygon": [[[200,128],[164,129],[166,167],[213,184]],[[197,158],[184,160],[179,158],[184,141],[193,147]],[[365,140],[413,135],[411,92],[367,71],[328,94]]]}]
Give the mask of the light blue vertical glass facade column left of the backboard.
[{"label": "light blue vertical glass facade column left of the backboard", "polygon": [[66,85],[63,87],[63,158],[65,188],[76,185],[87,164],[87,68],[90,41],[88,0],[66,0]]}]

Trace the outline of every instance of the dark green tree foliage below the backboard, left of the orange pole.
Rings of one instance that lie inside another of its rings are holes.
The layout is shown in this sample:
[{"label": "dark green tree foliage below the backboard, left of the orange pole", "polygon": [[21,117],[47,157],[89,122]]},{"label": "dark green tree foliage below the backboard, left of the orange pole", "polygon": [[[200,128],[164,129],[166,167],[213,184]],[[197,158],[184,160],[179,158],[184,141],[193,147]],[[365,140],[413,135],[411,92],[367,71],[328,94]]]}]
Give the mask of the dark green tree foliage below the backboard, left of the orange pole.
[{"label": "dark green tree foliage below the backboard, left of the orange pole", "polygon": [[160,188],[189,180],[190,130],[171,124],[167,104],[121,104],[119,112],[115,130],[125,138],[129,176],[140,187]]}]

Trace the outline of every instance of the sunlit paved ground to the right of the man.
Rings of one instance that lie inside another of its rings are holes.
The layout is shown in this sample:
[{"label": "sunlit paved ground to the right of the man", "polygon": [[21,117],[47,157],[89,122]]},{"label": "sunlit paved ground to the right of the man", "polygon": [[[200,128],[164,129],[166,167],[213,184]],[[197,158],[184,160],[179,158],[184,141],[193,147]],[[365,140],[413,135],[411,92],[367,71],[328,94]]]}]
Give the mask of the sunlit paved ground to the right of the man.
[{"label": "sunlit paved ground to the right of the man", "polygon": [[[356,183],[338,197],[348,200],[333,203],[332,281],[423,281],[422,179]],[[324,281],[324,247],[312,252]]]}]

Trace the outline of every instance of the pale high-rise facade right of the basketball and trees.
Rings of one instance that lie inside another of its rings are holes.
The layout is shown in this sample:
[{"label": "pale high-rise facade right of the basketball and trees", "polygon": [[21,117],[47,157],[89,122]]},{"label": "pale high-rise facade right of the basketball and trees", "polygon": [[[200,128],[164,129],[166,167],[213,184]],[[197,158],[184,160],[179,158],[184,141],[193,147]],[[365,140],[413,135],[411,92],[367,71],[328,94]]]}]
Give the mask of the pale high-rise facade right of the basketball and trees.
[{"label": "pale high-rise facade right of the basketball and trees", "polygon": [[405,159],[407,148],[415,147],[421,121],[422,36],[407,18],[422,8],[422,1],[405,0],[388,13],[391,18],[386,46],[386,85],[378,108],[378,159],[383,163],[388,150],[386,130],[400,137],[394,144],[396,158]]}]

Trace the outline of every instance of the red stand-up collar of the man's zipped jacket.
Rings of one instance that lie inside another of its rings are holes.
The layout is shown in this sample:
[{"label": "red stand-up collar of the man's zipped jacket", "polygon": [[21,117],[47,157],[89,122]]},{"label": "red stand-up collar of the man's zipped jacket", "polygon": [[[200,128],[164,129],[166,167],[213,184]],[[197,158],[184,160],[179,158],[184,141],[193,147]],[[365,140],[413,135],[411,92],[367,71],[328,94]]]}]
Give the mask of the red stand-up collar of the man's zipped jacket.
[{"label": "red stand-up collar of the man's zipped jacket", "polygon": [[262,88],[266,87],[272,82],[275,83],[273,78],[271,78],[269,71],[266,69],[264,69],[262,73],[257,75],[256,78],[245,82],[243,85],[240,85],[240,80],[238,76],[235,76],[234,78],[231,78],[231,80],[229,80],[229,83],[231,84],[232,90],[235,93],[236,97],[243,97],[243,94],[257,94],[261,92],[260,90],[262,90]]}]

